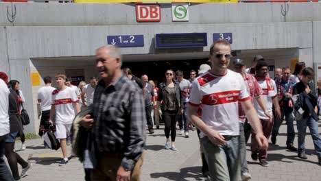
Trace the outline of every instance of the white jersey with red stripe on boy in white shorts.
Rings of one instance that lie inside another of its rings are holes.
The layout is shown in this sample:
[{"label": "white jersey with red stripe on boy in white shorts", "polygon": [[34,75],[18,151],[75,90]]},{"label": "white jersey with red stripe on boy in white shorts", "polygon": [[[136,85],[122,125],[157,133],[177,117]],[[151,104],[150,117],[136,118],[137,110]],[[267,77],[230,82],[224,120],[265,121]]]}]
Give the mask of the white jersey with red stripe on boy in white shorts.
[{"label": "white jersey with red stripe on boy in white shorts", "polygon": [[75,102],[78,102],[78,97],[72,88],[66,86],[64,90],[53,90],[52,104],[56,107],[56,123],[71,124],[73,122]]}]

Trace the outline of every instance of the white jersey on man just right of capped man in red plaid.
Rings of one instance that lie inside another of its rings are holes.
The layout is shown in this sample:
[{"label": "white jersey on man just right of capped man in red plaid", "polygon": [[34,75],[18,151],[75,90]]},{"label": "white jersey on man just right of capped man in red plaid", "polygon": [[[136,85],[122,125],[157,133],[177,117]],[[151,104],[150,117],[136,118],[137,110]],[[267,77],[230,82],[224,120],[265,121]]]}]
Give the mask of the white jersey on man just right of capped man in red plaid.
[{"label": "white jersey on man just right of capped man in red plaid", "polygon": [[[259,83],[259,86],[263,90],[263,96],[265,102],[266,102],[266,108],[268,109],[268,112],[272,115],[273,117],[273,111],[272,111],[272,106],[273,106],[273,101],[272,97],[276,96],[278,93],[276,90],[276,84],[274,80],[270,79],[270,87],[271,89],[268,90],[268,84],[266,83],[266,80],[258,80],[257,83]],[[254,107],[257,109],[257,114],[259,115],[259,119],[269,119],[262,110],[261,106],[257,103],[257,99],[254,99]]]}]

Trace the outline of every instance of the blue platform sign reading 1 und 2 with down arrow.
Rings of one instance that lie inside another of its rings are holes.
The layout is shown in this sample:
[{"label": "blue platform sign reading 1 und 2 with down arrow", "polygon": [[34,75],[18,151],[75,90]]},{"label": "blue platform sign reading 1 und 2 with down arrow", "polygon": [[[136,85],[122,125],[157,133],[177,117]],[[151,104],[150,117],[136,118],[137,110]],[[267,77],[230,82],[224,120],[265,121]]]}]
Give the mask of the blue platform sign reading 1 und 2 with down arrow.
[{"label": "blue platform sign reading 1 und 2 with down arrow", "polygon": [[117,47],[143,47],[144,36],[142,34],[107,36],[107,44]]}]

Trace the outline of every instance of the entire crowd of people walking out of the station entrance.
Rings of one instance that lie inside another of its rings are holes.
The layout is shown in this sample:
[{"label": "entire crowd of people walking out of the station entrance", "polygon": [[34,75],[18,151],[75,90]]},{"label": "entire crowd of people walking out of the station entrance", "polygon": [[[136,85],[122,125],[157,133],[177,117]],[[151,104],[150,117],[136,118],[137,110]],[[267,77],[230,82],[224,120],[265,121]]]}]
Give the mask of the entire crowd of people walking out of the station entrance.
[{"label": "entire crowd of people walking out of the station entrance", "polygon": [[[86,181],[140,180],[146,130],[154,134],[160,121],[165,125],[164,148],[172,151],[179,149],[175,145],[176,126],[185,138],[190,130],[197,130],[202,173],[209,180],[251,179],[246,160],[249,138],[251,158],[268,167],[268,140],[271,137],[276,144],[284,117],[286,148],[307,159],[305,135],[309,127],[321,165],[321,84],[314,87],[314,71],[304,62],[296,64],[294,73],[290,67],[275,69],[272,79],[262,56],[255,56],[247,69],[244,60],[232,57],[228,41],[217,40],[209,49],[209,64],[189,71],[189,80],[183,71],[167,69],[165,81],[158,86],[146,74],[136,77],[129,68],[121,69],[121,53],[115,46],[97,49],[95,63],[100,80],[91,77],[89,84],[80,82],[77,87],[66,75],[56,74],[56,88],[47,76],[45,86],[38,90],[39,135],[54,130],[63,155],[60,166],[78,156],[84,163]],[[14,151],[17,136],[25,149],[21,124],[25,99],[18,81],[8,82],[5,73],[0,73],[0,78],[0,179],[20,180],[32,167]],[[76,115],[79,128],[74,128],[78,127],[73,123]],[[298,148],[294,147],[294,121]],[[73,152],[67,154],[71,141]],[[18,163],[23,168],[21,174]]]}]

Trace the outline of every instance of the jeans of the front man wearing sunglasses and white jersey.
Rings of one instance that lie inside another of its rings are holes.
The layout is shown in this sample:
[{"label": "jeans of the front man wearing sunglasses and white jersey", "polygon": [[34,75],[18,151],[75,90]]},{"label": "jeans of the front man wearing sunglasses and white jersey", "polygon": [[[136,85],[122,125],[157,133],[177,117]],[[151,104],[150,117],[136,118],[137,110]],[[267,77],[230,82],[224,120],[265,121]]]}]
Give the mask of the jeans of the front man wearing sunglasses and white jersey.
[{"label": "jeans of the front man wearing sunglasses and white jersey", "polygon": [[224,145],[214,145],[209,137],[201,138],[212,181],[241,179],[239,136],[224,136]]}]

